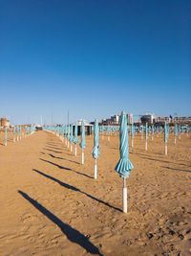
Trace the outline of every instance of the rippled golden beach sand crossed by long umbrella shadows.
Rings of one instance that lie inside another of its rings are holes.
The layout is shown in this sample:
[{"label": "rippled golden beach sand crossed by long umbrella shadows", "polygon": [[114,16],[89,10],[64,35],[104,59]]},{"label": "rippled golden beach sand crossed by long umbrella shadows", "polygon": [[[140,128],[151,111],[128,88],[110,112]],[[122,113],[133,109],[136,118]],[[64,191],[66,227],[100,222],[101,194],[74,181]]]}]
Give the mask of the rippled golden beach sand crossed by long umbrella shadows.
[{"label": "rippled golden beach sand crossed by long umbrella shadows", "polygon": [[190,255],[191,138],[174,146],[170,137],[168,156],[162,135],[147,152],[135,138],[127,214],[114,172],[118,138],[100,138],[97,180],[92,144],[84,166],[45,131],[0,145],[0,255]]}]

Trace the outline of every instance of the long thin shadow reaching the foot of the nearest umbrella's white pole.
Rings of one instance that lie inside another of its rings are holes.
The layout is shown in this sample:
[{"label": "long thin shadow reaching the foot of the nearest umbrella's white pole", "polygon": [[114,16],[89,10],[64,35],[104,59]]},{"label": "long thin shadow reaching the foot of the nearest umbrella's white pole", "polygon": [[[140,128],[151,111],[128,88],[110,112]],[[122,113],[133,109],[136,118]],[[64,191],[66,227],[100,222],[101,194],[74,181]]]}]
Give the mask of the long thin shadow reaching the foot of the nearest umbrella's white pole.
[{"label": "long thin shadow reaching the foot of the nearest umbrella's white pole", "polygon": [[53,176],[51,176],[51,175],[46,175],[46,174],[44,174],[44,173],[42,173],[42,172],[40,172],[40,171],[38,171],[38,170],[36,170],[36,169],[32,169],[32,171],[35,172],[35,173],[37,173],[37,174],[39,174],[39,175],[43,175],[43,176],[45,176],[45,177],[47,177],[47,178],[53,180],[54,182],[58,183],[60,186],[66,188],[66,189],[70,189],[70,190],[73,190],[73,191],[75,191],[75,192],[79,192],[79,193],[85,195],[85,196],[88,197],[88,198],[94,199],[94,200],[96,200],[96,201],[98,201],[98,202],[100,202],[100,203],[102,203],[102,204],[104,204],[104,205],[106,205],[106,206],[108,206],[108,207],[110,207],[110,208],[113,208],[113,209],[115,209],[115,210],[121,212],[121,210],[120,210],[119,208],[117,208],[117,207],[115,207],[115,206],[109,204],[108,202],[105,202],[105,201],[103,201],[103,200],[101,200],[101,199],[95,198],[94,196],[89,195],[88,193],[83,192],[83,191],[81,191],[80,189],[75,188],[75,187],[72,186],[72,185],[69,185],[69,184],[67,184],[67,183],[64,183],[64,182],[60,181],[59,179],[57,179],[57,178],[55,178],[55,177],[53,177]]}]

